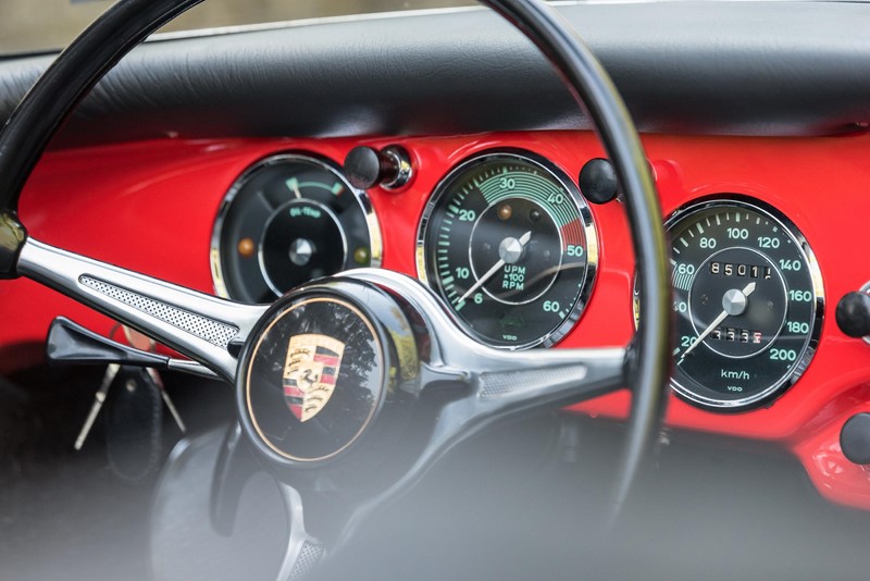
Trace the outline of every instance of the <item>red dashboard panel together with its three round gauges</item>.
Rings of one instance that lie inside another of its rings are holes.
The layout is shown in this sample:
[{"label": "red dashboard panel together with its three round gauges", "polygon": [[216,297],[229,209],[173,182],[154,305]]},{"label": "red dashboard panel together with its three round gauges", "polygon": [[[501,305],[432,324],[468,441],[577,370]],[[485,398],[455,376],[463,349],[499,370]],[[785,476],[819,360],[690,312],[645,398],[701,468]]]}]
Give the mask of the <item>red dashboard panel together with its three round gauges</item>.
[{"label": "red dashboard panel together with its three round gauges", "polygon": [[[840,317],[870,302],[870,136],[643,139],[673,260],[666,424],[776,443],[821,494],[870,509],[866,469],[841,452],[846,421],[867,411],[870,350],[854,337],[870,317]],[[399,146],[410,174],[355,185],[343,162],[361,145]],[[637,314],[626,212],[582,178],[602,157],[593,134],[556,131],[134,143],[49,152],[20,212],[47,244],[236,300],[380,264],[425,281],[457,329],[494,348],[624,347]],[[0,329],[8,372],[38,364],[57,316],[111,331],[26,281],[3,293],[21,305]],[[571,410],[618,420],[630,400]]]}]

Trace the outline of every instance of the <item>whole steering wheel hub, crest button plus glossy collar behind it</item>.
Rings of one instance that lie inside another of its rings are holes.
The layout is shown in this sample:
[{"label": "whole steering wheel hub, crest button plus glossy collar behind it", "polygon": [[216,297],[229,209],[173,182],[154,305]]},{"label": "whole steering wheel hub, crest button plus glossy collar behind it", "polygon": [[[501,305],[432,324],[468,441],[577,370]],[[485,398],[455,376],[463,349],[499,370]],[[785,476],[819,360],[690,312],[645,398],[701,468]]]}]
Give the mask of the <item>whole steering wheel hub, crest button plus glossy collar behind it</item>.
[{"label": "whole steering wheel hub, crest button plus glossy collar behind it", "polygon": [[395,299],[369,283],[312,284],[278,299],[243,349],[241,425],[278,463],[331,460],[418,370],[411,325]]}]

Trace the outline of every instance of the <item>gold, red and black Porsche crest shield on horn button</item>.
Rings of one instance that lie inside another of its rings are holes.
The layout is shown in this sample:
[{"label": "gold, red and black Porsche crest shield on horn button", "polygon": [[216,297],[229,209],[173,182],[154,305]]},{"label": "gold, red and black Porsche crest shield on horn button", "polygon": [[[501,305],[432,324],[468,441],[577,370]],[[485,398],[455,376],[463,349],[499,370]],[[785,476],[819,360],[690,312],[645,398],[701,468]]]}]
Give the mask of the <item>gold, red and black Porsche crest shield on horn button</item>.
[{"label": "gold, red and black Porsche crest shield on horn button", "polygon": [[326,406],[335,391],[345,344],[326,335],[295,335],[284,363],[284,400],[299,421]]}]

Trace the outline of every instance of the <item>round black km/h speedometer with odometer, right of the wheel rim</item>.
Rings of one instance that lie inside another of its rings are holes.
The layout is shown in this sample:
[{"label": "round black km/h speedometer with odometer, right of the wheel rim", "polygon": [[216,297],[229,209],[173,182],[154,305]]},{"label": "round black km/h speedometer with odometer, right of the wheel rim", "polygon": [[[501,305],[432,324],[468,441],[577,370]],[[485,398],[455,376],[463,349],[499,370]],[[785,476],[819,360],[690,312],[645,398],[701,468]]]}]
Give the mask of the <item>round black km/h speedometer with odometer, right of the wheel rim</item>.
[{"label": "round black km/h speedometer with odometer, right of the wheel rim", "polygon": [[668,220],[678,346],[673,390],[744,410],[782,394],[821,331],[821,274],[804,236],[750,198],[707,199]]}]

